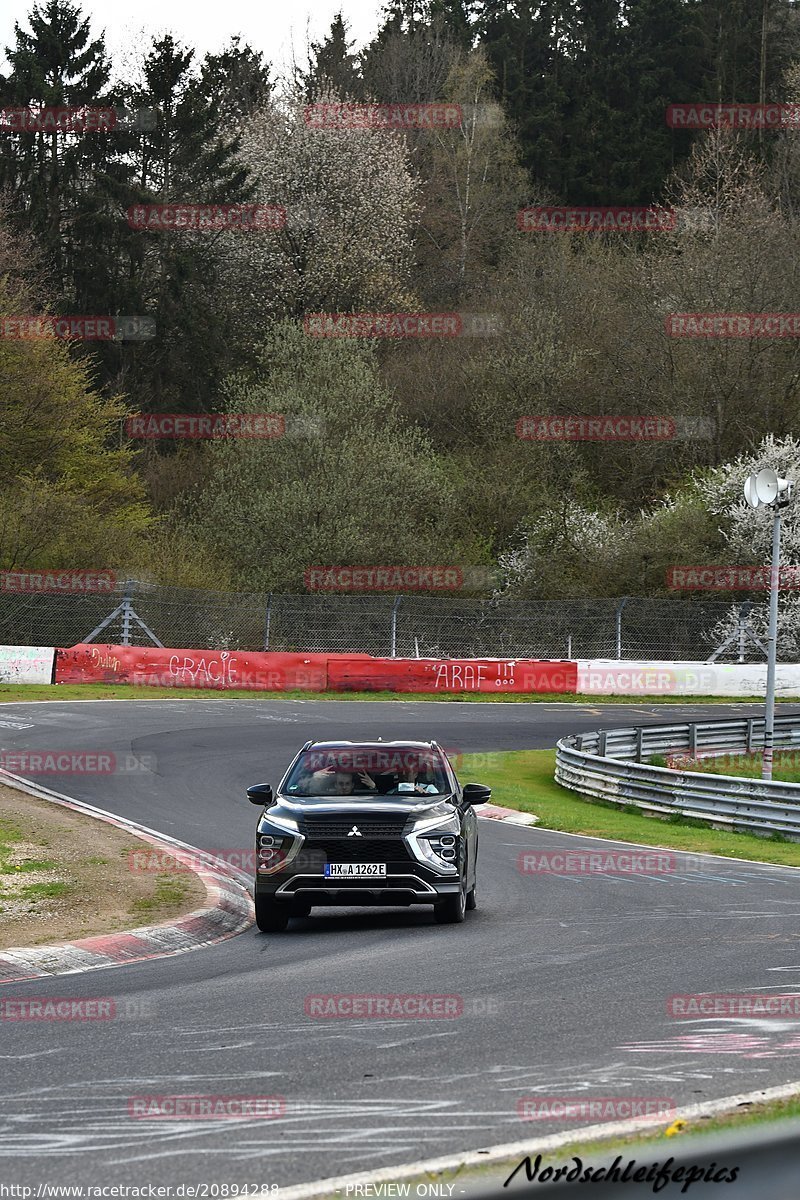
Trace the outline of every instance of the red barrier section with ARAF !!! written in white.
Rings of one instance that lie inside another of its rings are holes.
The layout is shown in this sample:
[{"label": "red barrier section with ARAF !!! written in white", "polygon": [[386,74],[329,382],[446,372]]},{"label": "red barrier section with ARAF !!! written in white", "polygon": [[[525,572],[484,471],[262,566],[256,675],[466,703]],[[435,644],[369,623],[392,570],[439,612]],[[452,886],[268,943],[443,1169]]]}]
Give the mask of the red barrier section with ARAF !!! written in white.
[{"label": "red barrier section with ARAF !!! written in white", "polygon": [[575,692],[576,662],[534,659],[331,659],[331,691]]}]

